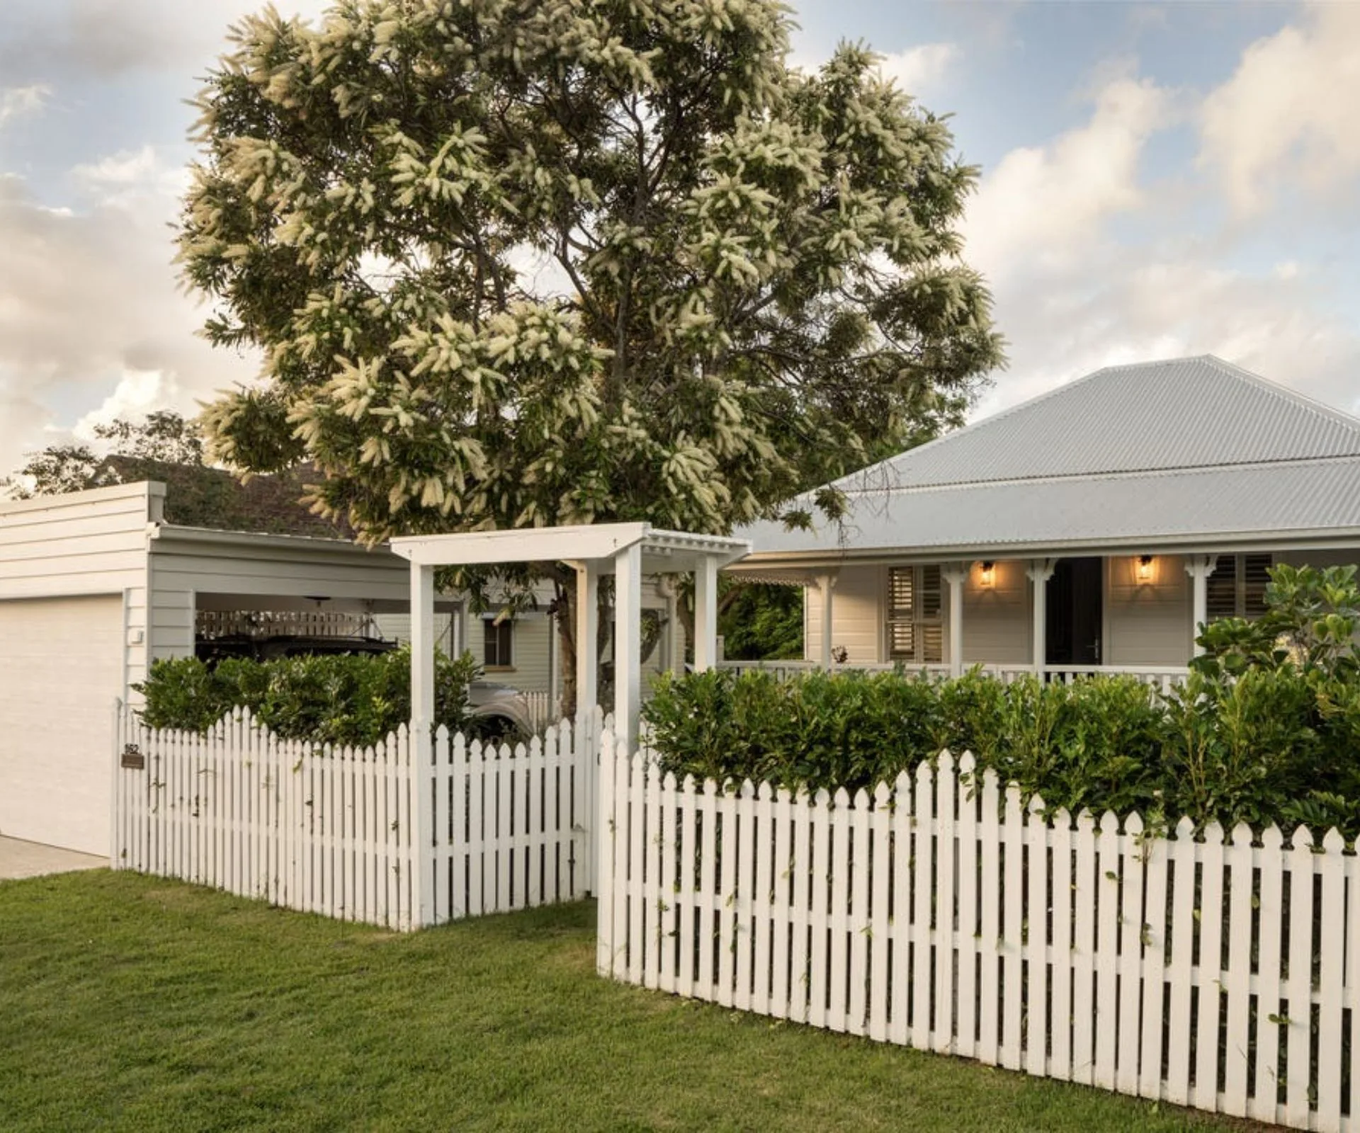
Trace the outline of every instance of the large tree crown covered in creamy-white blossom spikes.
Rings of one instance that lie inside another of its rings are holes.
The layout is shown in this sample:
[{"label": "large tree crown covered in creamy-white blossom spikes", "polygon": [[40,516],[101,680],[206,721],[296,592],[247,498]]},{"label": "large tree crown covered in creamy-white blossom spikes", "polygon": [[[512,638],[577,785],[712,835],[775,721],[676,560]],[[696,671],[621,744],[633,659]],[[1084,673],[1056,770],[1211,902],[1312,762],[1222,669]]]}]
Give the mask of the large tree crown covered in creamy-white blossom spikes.
[{"label": "large tree crown covered in creamy-white blossom spikes", "polygon": [[209,339],[264,350],[218,457],[313,461],[373,540],[725,532],[956,422],[1000,362],[975,171],[872,53],[802,75],[787,30],[771,0],[245,19],[180,229]]}]

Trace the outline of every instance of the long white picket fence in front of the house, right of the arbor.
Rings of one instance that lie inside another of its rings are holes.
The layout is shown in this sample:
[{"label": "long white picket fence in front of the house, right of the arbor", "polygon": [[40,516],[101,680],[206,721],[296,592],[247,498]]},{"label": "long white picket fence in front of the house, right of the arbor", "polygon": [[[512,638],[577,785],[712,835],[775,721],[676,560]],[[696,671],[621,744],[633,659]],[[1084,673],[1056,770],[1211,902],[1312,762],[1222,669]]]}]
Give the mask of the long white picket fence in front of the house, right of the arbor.
[{"label": "long white picket fence in front of the house, right of the arbor", "polygon": [[1360,858],[1021,807],[944,754],[854,798],[676,783],[604,737],[598,967],[1297,1129],[1360,1129]]}]

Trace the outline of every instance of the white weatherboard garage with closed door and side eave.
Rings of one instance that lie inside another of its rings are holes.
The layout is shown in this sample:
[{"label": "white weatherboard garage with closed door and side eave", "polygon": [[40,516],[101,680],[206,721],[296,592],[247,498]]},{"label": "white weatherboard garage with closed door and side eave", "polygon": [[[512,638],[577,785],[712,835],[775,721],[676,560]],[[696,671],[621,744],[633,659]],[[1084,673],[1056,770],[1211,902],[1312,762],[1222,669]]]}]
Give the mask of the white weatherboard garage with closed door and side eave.
[{"label": "white weatherboard garage with closed door and side eave", "polygon": [[407,563],[345,540],[182,528],[165,486],[0,503],[0,835],[106,856],[113,707],[204,611],[405,612]]}]

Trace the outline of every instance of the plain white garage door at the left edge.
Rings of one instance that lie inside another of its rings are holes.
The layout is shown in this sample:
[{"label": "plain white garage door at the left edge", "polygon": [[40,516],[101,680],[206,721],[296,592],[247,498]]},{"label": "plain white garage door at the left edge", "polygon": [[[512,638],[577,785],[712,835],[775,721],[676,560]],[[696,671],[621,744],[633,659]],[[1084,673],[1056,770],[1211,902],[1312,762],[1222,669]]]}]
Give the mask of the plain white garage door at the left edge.
[{"label": "plain white garage door at the left edge", "polygon": [[122,597],[0,601],[0,834],[109,853]]}]

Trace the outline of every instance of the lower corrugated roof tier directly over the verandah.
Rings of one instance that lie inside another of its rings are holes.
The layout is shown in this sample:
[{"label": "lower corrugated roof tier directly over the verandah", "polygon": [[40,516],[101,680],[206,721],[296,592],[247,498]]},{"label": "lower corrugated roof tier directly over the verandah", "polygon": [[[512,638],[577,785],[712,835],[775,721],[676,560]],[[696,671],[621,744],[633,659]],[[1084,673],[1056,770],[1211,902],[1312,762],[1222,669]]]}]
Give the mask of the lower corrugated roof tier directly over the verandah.
[{"label": "lower corrugated roof tier directly over the verandah", "polygon": [[1186,536],[1360,529],[1360,457],[865,492],[845,532],[747,528],[756,555],[911,548],[1148,544]]}]

